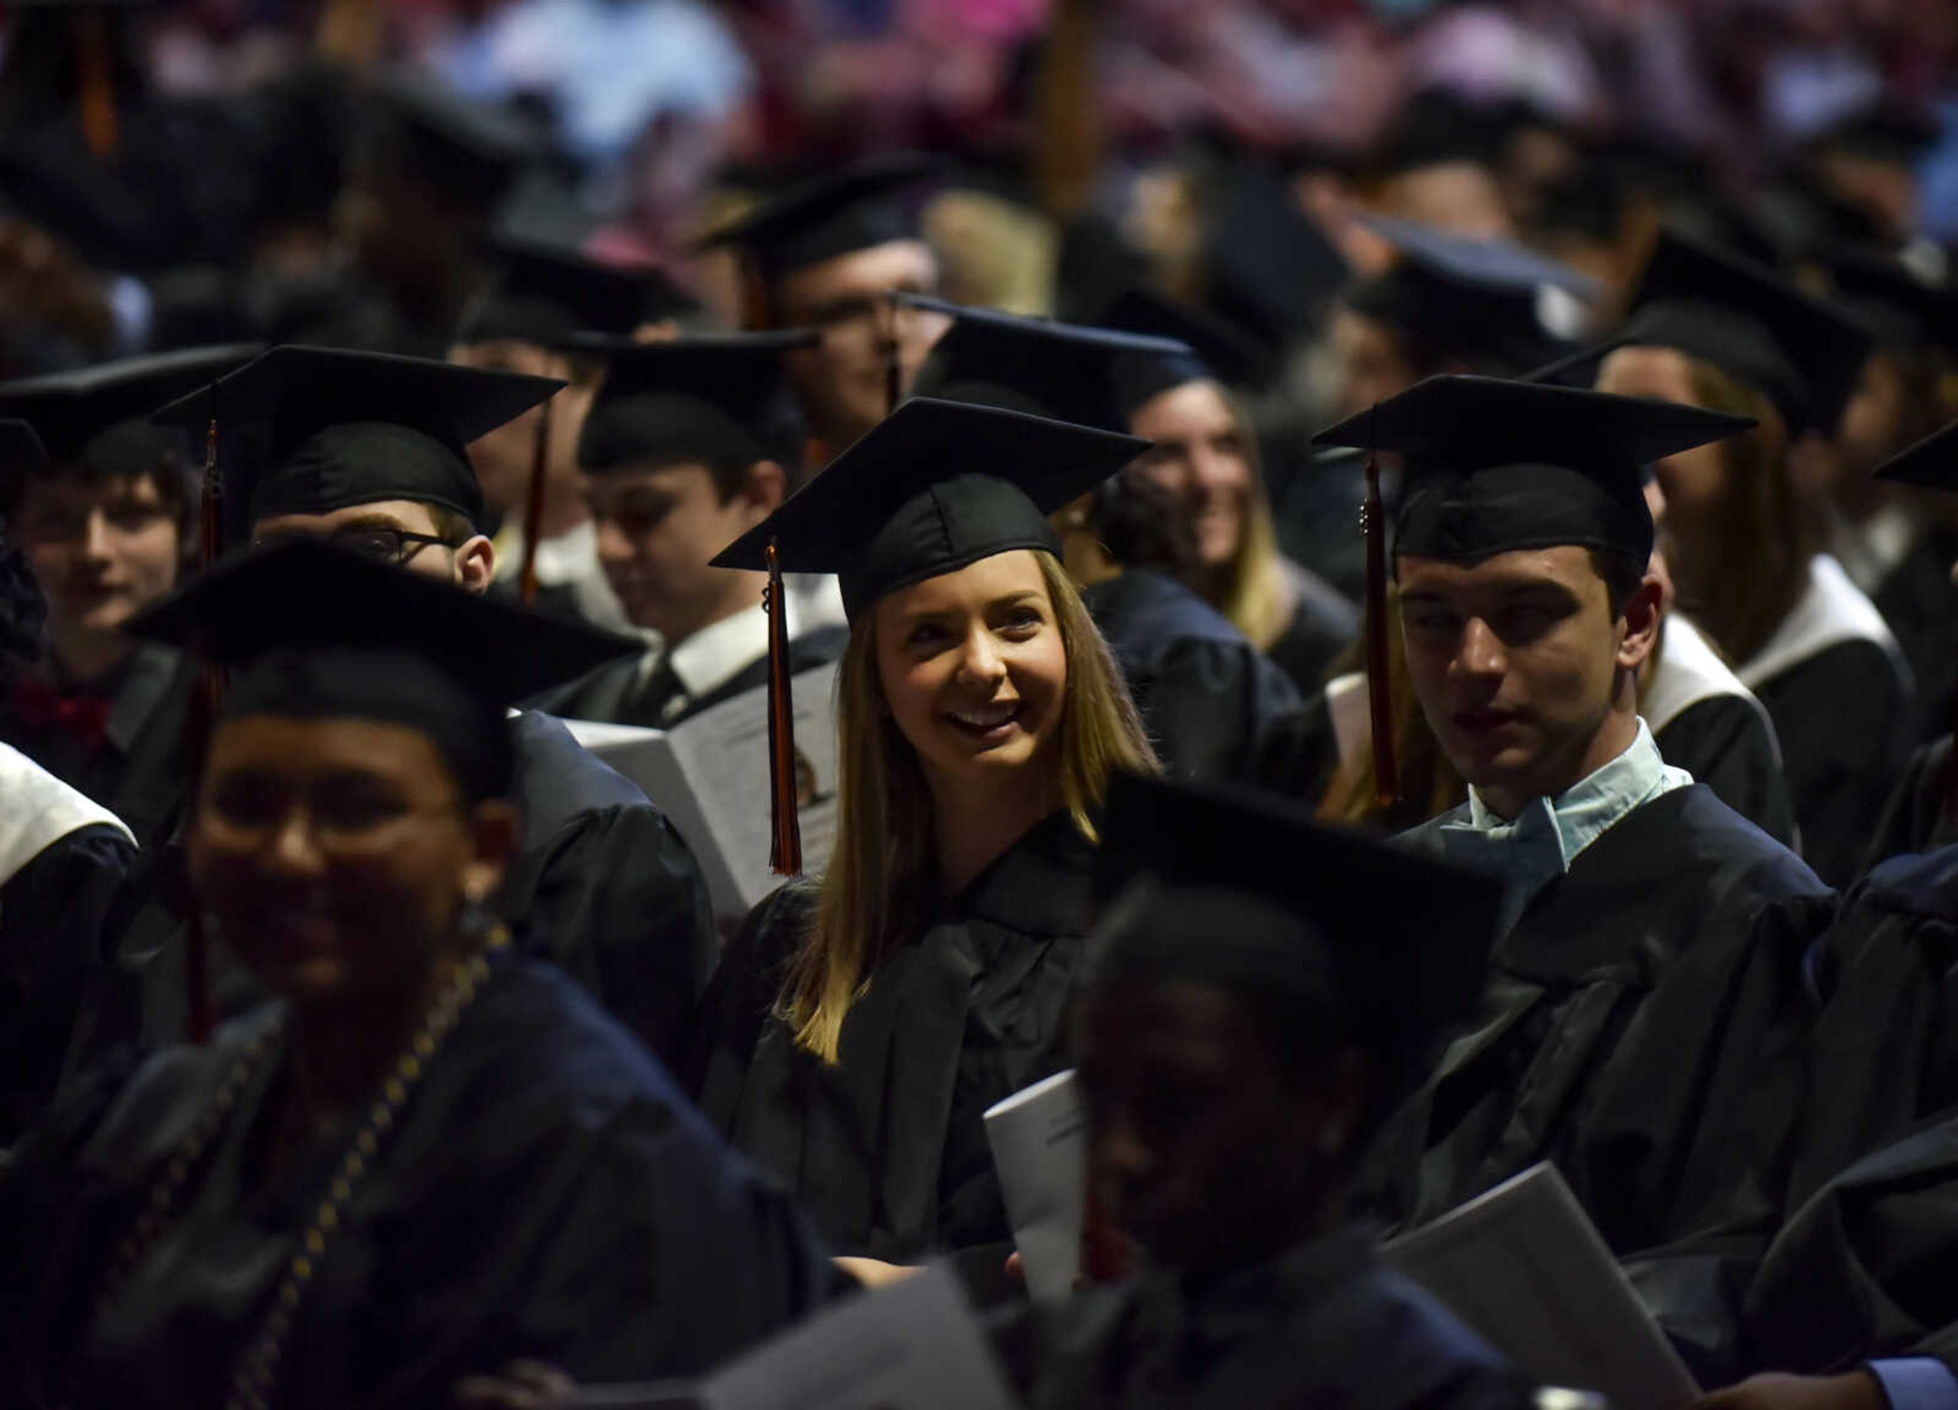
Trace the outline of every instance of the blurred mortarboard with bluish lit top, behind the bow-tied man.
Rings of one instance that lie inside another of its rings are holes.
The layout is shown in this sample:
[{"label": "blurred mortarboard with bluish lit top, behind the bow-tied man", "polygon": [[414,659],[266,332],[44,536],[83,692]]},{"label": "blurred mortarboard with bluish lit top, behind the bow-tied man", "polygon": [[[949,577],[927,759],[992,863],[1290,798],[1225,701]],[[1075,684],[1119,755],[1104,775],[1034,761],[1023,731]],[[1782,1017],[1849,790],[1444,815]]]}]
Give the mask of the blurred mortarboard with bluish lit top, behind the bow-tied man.
[{"label": "blurred mortarboard with bluish lit top, behind the bow-tied man", "polygon": [[1568,346],[1543,319],[1545,289],[1576,299],[1598,282],[1514,241],[1467,239],[1382,215],[1363,223],[1394,246],[1382,274],[1351,286],[1343,301],[1394,332],[1474,366],[1521,372]]}]

